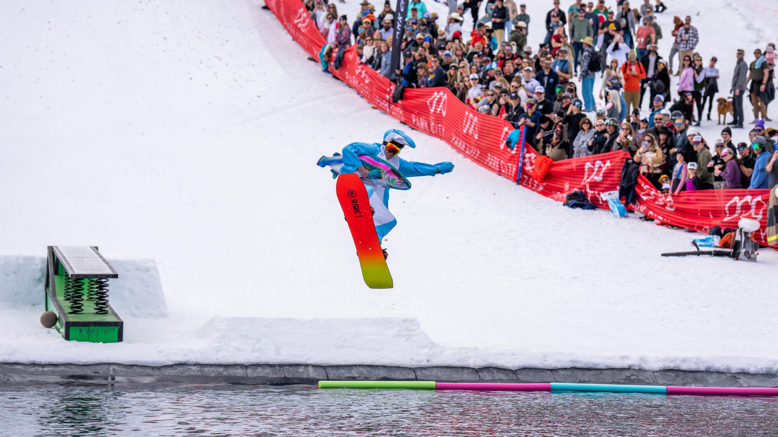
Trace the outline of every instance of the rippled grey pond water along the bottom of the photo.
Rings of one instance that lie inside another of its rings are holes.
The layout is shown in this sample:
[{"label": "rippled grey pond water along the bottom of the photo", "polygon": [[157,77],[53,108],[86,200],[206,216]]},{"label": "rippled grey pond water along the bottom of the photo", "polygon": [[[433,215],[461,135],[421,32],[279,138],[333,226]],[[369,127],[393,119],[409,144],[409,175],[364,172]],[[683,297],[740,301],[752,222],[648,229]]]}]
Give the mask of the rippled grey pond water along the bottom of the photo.
[{"label": "rippled grey pond water along the bottom of the photo", "polygon": [[778,435],[778,399],[0,384],[0,435]]}]

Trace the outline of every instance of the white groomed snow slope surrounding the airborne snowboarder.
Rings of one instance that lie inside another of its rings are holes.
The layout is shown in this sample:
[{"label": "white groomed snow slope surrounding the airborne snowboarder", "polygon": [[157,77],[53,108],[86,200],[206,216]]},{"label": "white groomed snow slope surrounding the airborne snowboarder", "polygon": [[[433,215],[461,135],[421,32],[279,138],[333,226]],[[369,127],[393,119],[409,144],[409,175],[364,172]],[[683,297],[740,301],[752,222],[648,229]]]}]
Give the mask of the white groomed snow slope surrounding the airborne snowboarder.
[{"label": "white groomed snow slope surrounding the airborne snowboarder", "polygon": [[[690,14],[724,84],[735,48],[767,42],[751,5],[668,5],[660,53],[672,15]],[[564,208],[418,131],[403,157],[456,169],[392,193],[395,286],[366,288],[314,164],[403,126],[260,6],[2,2],[0,362],[778,372],[773,250],[661,257],[701,234]],[[548,8],[531,5],[532,44]],[[704,126],[712,143],[720,127]],[[40,327],[47,245],[114,263],[124,343]]]}]

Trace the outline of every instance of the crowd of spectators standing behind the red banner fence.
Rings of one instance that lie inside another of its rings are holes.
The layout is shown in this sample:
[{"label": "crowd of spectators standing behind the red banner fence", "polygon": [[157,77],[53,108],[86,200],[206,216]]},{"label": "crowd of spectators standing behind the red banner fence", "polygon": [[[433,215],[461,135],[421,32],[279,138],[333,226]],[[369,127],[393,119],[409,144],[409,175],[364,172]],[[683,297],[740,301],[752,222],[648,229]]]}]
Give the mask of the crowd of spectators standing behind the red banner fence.
[{"label": "crowd of spectators standing behind the red banner fence", "polygon": [[[526,141],[554,160],[625,150],[657,189],[672,193],[776,186],[778,130],[765,126],[775,96],[774,44],[756,49],[750,65],[738,50],[730,90],[734,120],[711,149],[696,128],[706,103],[706,121],[711,120],[720,72],[715,56],[705,65],[696,51],[700,35],[692,18],[675,17],[665,60],[657,52],[663,32],[654,15],[667,10],[661,0],[643,0],[636,9],[628,0],[615,7],[596,1],[576,0],[562,9],[560,0],[552,0],[546,33],[534,37],[537,51],[527,40],[531,16],[524,3],[450,0],[443,18],[424,2],[409,1],[402,56],[394,70],[395,12],[389,0],[378,8],[364,0],[350,24],[333,2],[306,0],[305,5],[328,42],[321,58],[328,61],[333,49],[356,44],[363,64],[397,83],[396,95],[407,88],[447,87],[473,110],[524,127]],[[468,10],[474,23],[470,32],[462,27]],[[678,89],[672,93],[676,55]],[[327,72],[325,61],[322,66]],[[594,99],[598,77],[599,104]],[[754,128],[749,142],[734,144],[732,129],[743,127],[746,92]],[[650,103],[642,110],[646,94]],[[517,132],[509,135],[508,147],[516,146]]]}]

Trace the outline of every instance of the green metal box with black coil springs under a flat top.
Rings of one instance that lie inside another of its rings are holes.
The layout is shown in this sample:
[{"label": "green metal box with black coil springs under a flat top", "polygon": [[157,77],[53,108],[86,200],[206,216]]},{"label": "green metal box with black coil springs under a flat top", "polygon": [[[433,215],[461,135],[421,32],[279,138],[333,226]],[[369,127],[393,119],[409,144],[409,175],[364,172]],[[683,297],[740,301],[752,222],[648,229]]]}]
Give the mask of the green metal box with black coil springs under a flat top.
[{"label": "green metal box with black coil springs under a flat top", "polygon": [[[47,323],[65,340],[117,343],[124,322],[108,303],[108,280],[118,278],[96,246],[48,246]],[[48,327],[48,326],[47,326]]]}]

